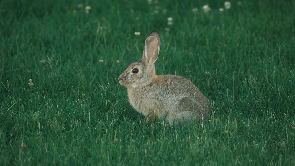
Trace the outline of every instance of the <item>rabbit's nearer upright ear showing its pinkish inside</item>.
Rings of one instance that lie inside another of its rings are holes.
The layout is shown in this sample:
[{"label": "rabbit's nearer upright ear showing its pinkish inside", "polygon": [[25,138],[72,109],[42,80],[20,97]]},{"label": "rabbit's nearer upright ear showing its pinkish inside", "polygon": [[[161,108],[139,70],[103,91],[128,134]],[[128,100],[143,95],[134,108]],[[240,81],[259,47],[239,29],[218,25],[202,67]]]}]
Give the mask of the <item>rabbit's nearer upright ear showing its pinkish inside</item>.
[{"label": "rabbit's nearer upright ear showing its pinkish inside", "polygon": [[[158,35],[158,37],[160,36]],[[158,41],[156,36],[151,35],[147,38],[147,40],[145,40],[145,49],[143,51],[142,58],[148,63],[148,65],[153,64],[158,58],[160,49],[159,42],[160,41]]]}]

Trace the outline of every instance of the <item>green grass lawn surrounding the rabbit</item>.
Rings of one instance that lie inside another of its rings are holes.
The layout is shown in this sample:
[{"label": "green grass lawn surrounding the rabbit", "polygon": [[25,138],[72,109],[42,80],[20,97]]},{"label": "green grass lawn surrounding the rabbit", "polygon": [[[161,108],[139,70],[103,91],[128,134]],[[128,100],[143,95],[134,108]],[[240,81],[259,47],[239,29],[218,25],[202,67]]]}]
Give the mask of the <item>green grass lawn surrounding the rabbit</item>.
[{"label": "green grass lawn surrounding the rabbit", "polygon": [[[230,2],[0,1],[0,165],[295,165],[295,1]],[[199,87],[209,121],[129,104],[118,77],[153,30],[156,73]]]}]

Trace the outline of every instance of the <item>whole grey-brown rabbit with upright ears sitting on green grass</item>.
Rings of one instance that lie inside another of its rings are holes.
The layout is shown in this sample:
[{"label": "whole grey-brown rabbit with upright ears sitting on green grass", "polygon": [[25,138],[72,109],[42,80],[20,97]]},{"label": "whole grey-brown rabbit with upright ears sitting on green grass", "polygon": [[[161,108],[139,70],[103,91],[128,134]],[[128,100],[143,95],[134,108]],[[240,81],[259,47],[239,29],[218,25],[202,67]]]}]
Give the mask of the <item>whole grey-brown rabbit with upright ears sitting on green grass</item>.
[{"label": "whole grey-brown rabbit with upright ears sitting on green grass", "polygon": [[118,80],[127,87],[130,104],[151,121],[173,123],[209,119],[209,100],[188,79],[177,75],[156,75],[155,61],[160,34],[153,31],[145,40],[142,59],[132,63]]}]

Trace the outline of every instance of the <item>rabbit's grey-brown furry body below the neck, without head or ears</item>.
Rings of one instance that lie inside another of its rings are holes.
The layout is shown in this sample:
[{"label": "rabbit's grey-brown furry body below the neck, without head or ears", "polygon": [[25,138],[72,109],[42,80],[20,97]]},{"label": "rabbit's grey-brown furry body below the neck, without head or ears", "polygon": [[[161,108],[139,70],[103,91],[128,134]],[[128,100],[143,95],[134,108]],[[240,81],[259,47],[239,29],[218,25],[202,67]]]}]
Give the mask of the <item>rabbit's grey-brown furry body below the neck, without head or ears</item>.
[{"label": "rabbit's grey-brown furry body below the neck, without head or ears", "polygon": [[[186,85],[186,86],[183,86]],[[209,101],[186,78],[176,75],[156,75],[152,83],[127,88],[131,105],[144,116],[151,114],[172,124],[195,119],[209,119]],[[140,94],[140,95],[139,95]],[[201,94],[201,95],[200,95]],[[198,101],[204,101],[199,103]],[[150,119],[147,119],[149,121]]]}]

